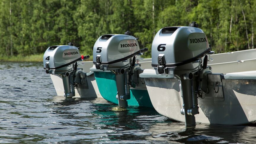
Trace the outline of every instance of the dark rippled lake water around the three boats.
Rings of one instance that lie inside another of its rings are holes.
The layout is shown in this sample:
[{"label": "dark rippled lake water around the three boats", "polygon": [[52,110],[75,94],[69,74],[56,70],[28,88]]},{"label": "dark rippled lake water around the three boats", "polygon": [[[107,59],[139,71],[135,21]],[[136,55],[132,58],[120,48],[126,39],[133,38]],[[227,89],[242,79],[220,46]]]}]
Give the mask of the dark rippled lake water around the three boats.
[{"label": "dark rippled lake water around the three boats", "polygon": [[0,143],[256,143],[254,126],[185,127],[153,108],[56,96],[42,63],[0,62],[0,74]]}]

